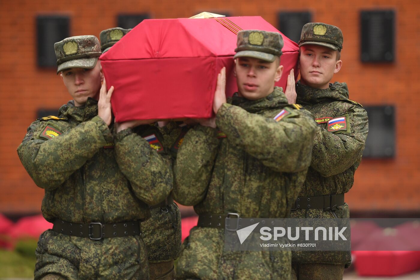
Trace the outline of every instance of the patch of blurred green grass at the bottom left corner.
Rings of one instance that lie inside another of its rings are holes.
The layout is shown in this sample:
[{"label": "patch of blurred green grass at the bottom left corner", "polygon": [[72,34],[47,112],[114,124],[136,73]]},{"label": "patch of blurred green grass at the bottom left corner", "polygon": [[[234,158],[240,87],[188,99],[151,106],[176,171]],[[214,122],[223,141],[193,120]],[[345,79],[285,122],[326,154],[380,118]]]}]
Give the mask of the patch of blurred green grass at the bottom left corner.
[{"label": "patch of blurred green grass at the bottom left corner", "polygon": [[14,251],[0,249],[1,278],[34,278],[36,240],[19,241]]}]

